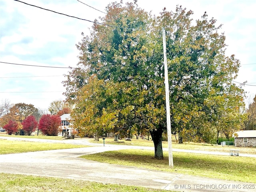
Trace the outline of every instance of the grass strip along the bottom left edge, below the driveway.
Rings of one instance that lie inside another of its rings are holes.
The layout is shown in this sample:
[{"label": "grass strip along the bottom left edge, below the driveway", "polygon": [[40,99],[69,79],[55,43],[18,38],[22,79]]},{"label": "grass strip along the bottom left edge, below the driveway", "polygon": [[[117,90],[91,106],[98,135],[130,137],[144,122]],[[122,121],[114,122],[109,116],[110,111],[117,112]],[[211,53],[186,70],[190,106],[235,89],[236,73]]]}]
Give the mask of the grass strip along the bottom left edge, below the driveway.
[{"label": "grass strip along the bottom left edge, below the driveway", "polygon": [[24,176],[0,173],[0,191],[26,191],[26,192],[171,192],[136,186],[119,184],[102,184],[84,180],[72,180],[41,176]]}]

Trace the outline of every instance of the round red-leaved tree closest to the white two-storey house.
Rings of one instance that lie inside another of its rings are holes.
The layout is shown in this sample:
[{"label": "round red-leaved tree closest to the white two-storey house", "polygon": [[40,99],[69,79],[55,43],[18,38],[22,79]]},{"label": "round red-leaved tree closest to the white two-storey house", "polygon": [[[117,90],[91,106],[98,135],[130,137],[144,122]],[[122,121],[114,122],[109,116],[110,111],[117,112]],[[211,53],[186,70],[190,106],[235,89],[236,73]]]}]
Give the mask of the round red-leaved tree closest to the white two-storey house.
[{"label": "round red-leaved tree closest to the white two-storey house", "polygon": [[58,133],[61,131],[60,122],[61,120],[58,115],[42,115],[39,120],[38,129],[45,135],[58,136]]}]

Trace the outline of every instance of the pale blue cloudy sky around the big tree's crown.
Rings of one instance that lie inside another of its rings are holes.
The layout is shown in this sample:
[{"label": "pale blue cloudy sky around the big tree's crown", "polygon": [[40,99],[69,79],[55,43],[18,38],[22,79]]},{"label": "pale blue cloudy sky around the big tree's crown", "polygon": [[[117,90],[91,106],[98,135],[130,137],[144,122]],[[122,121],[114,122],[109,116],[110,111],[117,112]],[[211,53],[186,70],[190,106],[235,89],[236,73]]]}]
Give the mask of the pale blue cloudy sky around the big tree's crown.
[{"label": "pale blue cloudy sky around the big tree's crown", "polygon": [[[77,0],[22,1],[92,21],[104,16]],[[102,11],[111,2],[80,1]],[[235,54],[241,62],[236,81],[256,85],[256,1],[138,0],[141,8],[152,10],[156,15],[164,7],[174,11],[177,4],[192,10],[194,19],[200,18],[206,11],[209,18],[214,17],[217,24],[223,24],[221,31],[225,32],[228,44],[226,55]],[[75,67],[78,62],[75,44],[81,40],[81,32],[88,34],[91,26],[91,22],[40,10],[14,0],[0,0],[0,62]],[[65,99],[62,95],[65,88],[61,82],[65,80],[63,74],[68,69],[3,63],[0,66],[0,100],[9,99],[13,104],[24,102],[47,109],[53,100]],[[256,86],[245,86],[244,89],[248,96],[256,94]]]}]

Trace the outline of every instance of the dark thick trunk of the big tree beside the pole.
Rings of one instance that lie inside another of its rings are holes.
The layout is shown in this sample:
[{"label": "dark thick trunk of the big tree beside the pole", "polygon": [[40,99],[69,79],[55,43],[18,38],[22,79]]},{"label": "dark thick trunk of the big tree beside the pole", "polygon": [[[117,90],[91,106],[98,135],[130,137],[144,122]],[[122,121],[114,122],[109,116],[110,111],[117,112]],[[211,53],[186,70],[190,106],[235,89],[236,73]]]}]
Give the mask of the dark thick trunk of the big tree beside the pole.
[{"label": "dark thick trunk of the big tree beside the pole", "polygon": [[155,158],[164,159],[163,149],[162,149],[162,129],[150,130],[152,140],[155,147]]}]

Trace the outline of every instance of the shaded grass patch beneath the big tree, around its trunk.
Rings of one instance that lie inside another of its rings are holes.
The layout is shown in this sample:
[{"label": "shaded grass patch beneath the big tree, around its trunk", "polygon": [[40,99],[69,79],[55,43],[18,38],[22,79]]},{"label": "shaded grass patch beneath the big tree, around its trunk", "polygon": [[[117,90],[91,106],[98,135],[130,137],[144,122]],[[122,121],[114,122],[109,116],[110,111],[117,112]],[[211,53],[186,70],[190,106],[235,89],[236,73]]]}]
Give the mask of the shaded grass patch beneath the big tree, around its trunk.
[{"label": "shaded grass patch beneath the big tree, around its trunk", "polygon": [[118,150],[81,156],[109,164],[256,183],[255,158],[173,152],[174,169],[171,169],[167,152],[164,152],[164,160],[153,157],[154,151],[150,150]]}]

